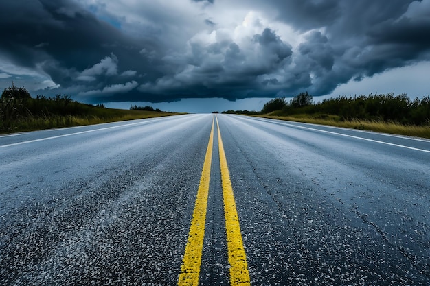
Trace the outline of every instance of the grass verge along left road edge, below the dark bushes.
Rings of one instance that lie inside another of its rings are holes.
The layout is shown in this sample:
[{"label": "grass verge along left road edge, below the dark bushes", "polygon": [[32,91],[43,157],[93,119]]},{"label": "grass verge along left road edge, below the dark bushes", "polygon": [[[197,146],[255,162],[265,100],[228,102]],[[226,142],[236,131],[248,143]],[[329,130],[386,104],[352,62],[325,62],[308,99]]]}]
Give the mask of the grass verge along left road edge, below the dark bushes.
[{"label": "grass verge along left road edge, below the dark bushes", "polygon": [[175,112],[155,112],[143,110],[122,110],[113,108],[91,108],[91,115],[49,115],[26,116],[14,119],[8,130],[0,130],[0,134],[12,132],[25,132],[49,128],[65,128],[72,126],[85,126],[115,121],[145,119],[152,117],[165,117],[179,115]]}]

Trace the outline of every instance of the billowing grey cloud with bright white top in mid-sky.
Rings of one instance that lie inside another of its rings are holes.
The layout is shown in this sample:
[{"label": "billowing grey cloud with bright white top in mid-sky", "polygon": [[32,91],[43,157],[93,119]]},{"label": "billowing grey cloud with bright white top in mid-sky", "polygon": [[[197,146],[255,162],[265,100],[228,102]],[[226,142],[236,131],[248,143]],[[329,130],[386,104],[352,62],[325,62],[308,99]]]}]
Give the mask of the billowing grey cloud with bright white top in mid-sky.
[{"label": "billowing grey cloud with bright white top in mid-sky", "polygon": [[[231,38],[222,36],[215,43],[191,41],[186,53],[165,59],[167,62],[173,60],[172,64],[180,62],[181,69],[164,75],[155,83],[143,84],[140,90],[231,100],[251,95],[273,95],[273,90],[260,90],[262,86],[267,86],[262,78],[291,60],[291,45],[284,43],[271,29],[253,35],[243,45],[245,47],[240,47]],[[274,84],[277,81],[271,79],[269,82]],[[159,98],[166,98],[166,95]]]}]

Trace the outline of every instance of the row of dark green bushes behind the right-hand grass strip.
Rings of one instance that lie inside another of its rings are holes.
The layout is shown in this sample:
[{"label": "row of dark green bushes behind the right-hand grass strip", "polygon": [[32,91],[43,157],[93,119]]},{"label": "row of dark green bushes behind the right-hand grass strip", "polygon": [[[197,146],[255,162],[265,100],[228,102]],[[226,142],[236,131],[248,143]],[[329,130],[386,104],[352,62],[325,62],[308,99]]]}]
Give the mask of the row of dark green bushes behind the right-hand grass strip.
[{"label": "row of dark green bushes behind the right-hand grass strip", "polygon": [[[229,110],[225,113],[238,112]],[[339,96],[315,103],[313,96],[306,92],[290,100],[285,97],[271,99],[258,113],[278,116],[337,115],[341,121],[360,119],[427,126],[430,124],[430,96],[410,99],[405,93],[371,93],[354,97]]]}]

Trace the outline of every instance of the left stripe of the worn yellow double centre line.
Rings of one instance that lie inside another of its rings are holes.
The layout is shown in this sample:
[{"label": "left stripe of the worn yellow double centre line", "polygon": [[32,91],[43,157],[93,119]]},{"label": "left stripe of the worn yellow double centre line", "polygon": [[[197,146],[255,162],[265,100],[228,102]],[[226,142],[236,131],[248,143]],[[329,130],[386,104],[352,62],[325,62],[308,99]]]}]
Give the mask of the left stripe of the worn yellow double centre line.
[{"label": "left stripe of the worn yellow double centre line", "polygon": [[192,214],[188,242],[181,265],[178,285],[199,285],[201,255],[203,252],[203,239],[205,237],[205,222],[207,210],[207,195],[209,193],[210,166],[212,163],[212,146],[214,145],[214,119],[212,130],[207,143],[205,162],[201,171],[199,190],[197,191],[196,205]]}]

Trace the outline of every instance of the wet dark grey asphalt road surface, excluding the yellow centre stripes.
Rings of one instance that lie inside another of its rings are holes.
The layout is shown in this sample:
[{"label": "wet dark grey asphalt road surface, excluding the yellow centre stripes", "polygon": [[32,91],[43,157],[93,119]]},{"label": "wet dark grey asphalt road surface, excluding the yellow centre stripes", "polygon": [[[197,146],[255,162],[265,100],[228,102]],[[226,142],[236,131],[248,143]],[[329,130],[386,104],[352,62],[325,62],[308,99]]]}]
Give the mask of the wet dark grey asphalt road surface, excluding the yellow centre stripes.
[{"label": "wet dark grey asphalt road surface, excluding the yellow centre stripes", "polygon": [[[214,115],[0,136],[0,285],[176,285]],[[217,115],[200,285],[430,285],[430,141]]]}]

